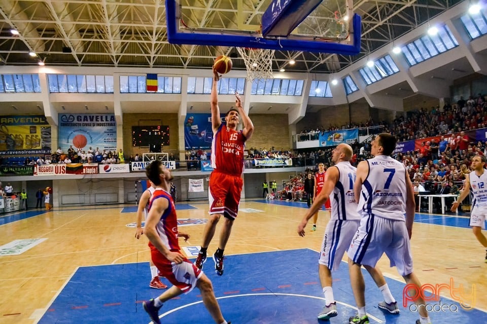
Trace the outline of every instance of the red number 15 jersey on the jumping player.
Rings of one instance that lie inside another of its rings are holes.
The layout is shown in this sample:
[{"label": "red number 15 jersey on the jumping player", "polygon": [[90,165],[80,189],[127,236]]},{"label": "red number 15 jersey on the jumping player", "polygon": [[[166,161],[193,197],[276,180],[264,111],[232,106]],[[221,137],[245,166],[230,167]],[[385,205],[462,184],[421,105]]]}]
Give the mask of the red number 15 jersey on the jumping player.
[{"label": "red number 15 jersey on the jumping player", "polygon": [[237,132],[220,125],[213,137],[212,168],[240,176],[243,172],[243,149],[246,140],[242,131]]}]

